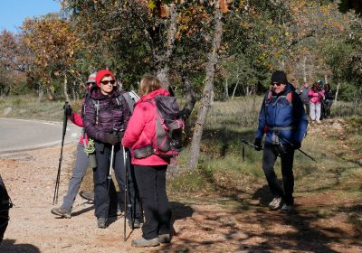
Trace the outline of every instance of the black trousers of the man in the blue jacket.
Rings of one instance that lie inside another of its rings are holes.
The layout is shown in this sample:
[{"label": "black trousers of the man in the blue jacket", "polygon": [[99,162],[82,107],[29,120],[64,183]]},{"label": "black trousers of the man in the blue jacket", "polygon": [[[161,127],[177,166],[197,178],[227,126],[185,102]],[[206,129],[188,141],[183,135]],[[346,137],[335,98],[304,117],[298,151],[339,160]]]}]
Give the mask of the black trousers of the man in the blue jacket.
[{"label": "black trousers of the man in the blue jacket", "polygon": [[[274,171],[274,164],[281,156],[281,174],[283,188]],[[271,193],[274,197],[281,197],[287,204],[293,204],[294,174],[293,174],[294,148],[291,145],[271,145],[266,143],[262,154],[262,170],[264,171]]]}]

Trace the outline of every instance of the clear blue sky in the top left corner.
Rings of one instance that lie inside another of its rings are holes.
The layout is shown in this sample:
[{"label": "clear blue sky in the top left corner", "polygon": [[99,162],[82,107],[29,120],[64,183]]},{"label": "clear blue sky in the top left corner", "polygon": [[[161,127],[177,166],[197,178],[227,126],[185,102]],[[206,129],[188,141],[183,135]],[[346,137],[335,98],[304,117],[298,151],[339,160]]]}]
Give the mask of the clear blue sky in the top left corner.
[{"label": "clear blue sky in the top left corner", "polygon": [[26,17],[34,17],[61,10],[54,0],[0,0],[0,32],[20,32],[19,27]]}]

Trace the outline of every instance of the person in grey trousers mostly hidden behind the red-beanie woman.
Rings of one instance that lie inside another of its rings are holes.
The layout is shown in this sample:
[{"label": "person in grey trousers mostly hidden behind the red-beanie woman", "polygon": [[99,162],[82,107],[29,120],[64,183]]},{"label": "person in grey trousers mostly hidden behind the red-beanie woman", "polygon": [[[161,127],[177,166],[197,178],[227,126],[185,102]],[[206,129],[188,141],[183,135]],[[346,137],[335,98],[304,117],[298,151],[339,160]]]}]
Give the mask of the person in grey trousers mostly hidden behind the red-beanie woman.
[{"label": "person in grey trousers mostly hidden behind the red-beanie woman", "polygon": [[[96,84],[96,74],[96,72],[90,74],[90,77],[88,78],[86,83],[86,92],[88,92],[90,88]],[[82,100],[82,103],[84,103],[84,99]],[[71,110],[71,106],[66,108],[66,114],[72,123],[77,126],[83,127],[83,119],[81,117],[81,114],[73,112]],[[71,209],[75,201],[75,197],[77,196],[78,191],[81,187],[81,181],[84,175],[87,173],[89,158],[88,155],[84,153],[85,145],[88,145],[88,136],[84,134],[81,135],[81,138],[77,145],[75,166],[71,174],[71,180],[69,181],[68,192],[63,198],[61,207],[52,209],[53,214],[62,216],[63,218],[71,218]]]}]

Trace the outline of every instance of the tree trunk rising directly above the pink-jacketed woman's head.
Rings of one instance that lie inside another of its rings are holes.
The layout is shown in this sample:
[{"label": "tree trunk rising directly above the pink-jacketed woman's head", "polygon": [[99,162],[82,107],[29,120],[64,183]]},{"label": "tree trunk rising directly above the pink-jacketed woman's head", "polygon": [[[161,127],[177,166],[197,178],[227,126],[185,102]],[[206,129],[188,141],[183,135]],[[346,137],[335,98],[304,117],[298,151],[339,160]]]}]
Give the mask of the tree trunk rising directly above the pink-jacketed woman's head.
[{"label": "tree trunk rising directly above the pink-jacketed woman's head", "polygon": [[174,51],[176,32],[177,32],[177,9],[176,4],[169,5],[170,24],[167,31],[167,44],[166,52],[157,57],[157,78],[161,81],[163,88],[168,89],[170,85],[168,80],[168,63],[171,59],[172,52]]}]

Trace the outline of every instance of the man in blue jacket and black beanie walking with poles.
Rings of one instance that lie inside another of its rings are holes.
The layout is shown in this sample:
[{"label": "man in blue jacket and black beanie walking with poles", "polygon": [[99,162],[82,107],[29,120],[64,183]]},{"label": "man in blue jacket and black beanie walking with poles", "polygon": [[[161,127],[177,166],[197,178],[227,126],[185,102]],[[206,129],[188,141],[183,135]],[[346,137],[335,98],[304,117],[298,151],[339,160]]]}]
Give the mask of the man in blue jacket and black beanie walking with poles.
[{"label": "man in blue jacket and black beanie walking with poles", "polygon": [[[255,149],[261,150],[262,136],[265,135],[262,169],[273,195],[269,208],[281,208],[283,212],[291,212],[293,207],[294,150],[300,148],[308,126],[300,97],[287,83],[287,76],[283,71],[272,73],[271,90],[265,94],[262,102],[254,142]],[[274,172],[278,155],[281,156],[282,188]]]}]

